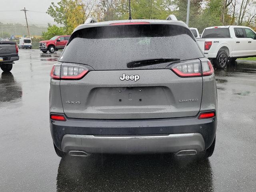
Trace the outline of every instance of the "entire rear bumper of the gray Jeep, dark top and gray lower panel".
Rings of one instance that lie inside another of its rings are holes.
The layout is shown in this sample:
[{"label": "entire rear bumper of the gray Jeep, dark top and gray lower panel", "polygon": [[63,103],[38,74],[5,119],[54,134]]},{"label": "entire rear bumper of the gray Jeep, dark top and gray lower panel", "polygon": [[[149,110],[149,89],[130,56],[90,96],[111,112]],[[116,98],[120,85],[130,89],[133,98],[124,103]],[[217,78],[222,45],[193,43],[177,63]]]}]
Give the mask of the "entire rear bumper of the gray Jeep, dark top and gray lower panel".
[{"label": "entire rear bumper of the gray Jeep, dark top and gray lower panel", "polygon": [[64,152],[88,153],[172,153],[212,144],[217,119],[164,118],[140,120],[92,120],[67,118],[50,120],[52,139]]}]

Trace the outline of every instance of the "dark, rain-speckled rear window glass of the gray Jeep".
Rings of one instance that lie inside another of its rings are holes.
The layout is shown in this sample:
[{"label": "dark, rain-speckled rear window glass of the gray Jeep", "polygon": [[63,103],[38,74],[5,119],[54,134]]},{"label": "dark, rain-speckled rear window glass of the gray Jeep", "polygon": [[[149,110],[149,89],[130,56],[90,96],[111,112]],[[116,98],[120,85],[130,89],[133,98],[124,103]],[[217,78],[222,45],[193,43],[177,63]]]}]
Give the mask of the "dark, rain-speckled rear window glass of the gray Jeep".
[{"label": "dark, rain-speckled rear window glass of the gray Jeep", "polygon": [[[202,58],[191,31],[183,26],[140,24],[100,26],[78,30],[60,62],[86,64],[94,70],[126,70],[127,63],[152,58]],[[168,63],[136,67],[165,68]],[[135,68],[134,68],[135,69]]]}]

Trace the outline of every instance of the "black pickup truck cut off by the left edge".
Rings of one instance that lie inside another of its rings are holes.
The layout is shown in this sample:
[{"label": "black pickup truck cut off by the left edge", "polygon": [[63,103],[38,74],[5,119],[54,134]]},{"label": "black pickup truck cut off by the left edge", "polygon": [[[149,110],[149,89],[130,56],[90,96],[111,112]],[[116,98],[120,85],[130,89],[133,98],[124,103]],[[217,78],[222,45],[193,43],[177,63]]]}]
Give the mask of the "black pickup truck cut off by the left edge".
[{"label": "black pickup truck cut off by the left edge", "polygon": [[0,68],[8,72],[12,70],[14,61],[19,60],[16,42],[0,41]]}]

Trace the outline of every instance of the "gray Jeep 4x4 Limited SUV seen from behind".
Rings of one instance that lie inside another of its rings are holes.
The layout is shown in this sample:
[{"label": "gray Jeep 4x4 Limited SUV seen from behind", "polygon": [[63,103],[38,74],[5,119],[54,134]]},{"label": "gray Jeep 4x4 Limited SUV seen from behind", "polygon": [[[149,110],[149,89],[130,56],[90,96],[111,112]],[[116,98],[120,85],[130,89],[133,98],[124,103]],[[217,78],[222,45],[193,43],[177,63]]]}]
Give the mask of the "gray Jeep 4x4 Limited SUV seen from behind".
[{"label": "gray Jeep 4x4 Limited SUV seen from behind", "polygon": [[78,26],[51,71],[50,130],[60,157],[212,155],[214,70],[184,22]]}]

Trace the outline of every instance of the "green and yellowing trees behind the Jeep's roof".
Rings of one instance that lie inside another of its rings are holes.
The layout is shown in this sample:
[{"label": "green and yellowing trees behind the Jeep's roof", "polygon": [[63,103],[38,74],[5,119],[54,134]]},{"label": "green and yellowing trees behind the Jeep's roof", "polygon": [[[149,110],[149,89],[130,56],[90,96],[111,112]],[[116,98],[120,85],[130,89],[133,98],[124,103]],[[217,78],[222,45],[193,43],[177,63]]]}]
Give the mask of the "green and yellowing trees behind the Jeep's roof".
[{"label": "green and yellowing trees behind the Jeep's roof", "polygon": [[[174,14],[186,22],[187,0],[131,0],[133,19],[166,19]],[[255,0],[191,0],[189,26],[202,32],[209,26],[244,25],[256,28]],[[88,17],[98,21],[128,19],[128,0],[60,0],[47,14],[63,27],[51,26],[43,37],[71,34]]]}]

